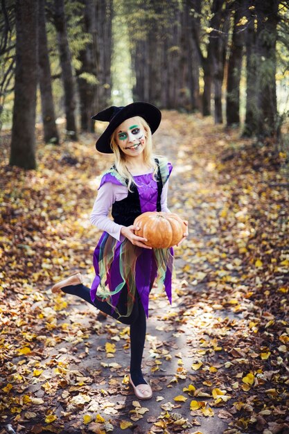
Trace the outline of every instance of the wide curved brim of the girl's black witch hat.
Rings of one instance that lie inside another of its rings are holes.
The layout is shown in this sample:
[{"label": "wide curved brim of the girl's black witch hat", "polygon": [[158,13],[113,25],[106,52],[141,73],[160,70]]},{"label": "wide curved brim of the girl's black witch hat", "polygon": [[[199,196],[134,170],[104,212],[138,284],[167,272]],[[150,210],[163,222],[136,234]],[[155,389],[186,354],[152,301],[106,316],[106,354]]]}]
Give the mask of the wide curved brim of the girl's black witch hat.
[{"label": "wide curved brim of the girl's black witch hat", "polygon": [[[96,115],[97,116],[97,115]],[[96,119],[96,116],[92,116],[91,119]],[[103,134],[96,141],[96,149],[100,153],[112,154],[112,148],[110,147],[110,141],[114,130],[123,123],[126,119],[130,119],[134,116],[141,116],[150,126],[152,134],[157,130],[161,123],[160,110],[150,103],[131,103],[119,110],[119,112],[112,118]]]}]

